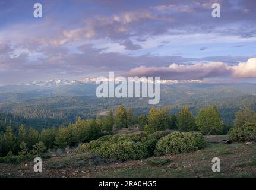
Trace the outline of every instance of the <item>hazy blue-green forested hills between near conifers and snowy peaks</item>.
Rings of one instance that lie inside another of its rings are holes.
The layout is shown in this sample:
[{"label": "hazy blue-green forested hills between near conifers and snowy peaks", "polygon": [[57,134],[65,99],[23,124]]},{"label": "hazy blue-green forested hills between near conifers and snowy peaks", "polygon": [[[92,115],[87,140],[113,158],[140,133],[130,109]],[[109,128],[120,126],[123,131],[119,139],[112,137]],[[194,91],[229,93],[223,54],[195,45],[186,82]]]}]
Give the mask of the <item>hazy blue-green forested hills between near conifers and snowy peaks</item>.
[{"label": "hazy blue-green forested hills between near conifers and snowy peaks", "polygon": [[[12,124],[17,122],[44,128],[68,125],[75,122],[77,116],[95,118],[97,114],[121,104],[131,107],[135,115],[146,114],[151,108],[146,98],[99,99],[95,97],[95,88],[93,83],[55,88],[1,87],[0,94],[2,97],[9,94],[9,99],[4,102],[2,99],[0,113],[8,113],[12,118],[7,118],[9,124],[12,120]],[[255,94],[255,84],[162,84],[160,103],[156,107],[168,106],[171,113],[178,113],[182,106],[188,105],[196,115],[200,107],[216,105],[223,121],[231,125],[234,113],[242,107],[249,106],[256,110]],[[0,120],[5,122],[5,116]]]}]

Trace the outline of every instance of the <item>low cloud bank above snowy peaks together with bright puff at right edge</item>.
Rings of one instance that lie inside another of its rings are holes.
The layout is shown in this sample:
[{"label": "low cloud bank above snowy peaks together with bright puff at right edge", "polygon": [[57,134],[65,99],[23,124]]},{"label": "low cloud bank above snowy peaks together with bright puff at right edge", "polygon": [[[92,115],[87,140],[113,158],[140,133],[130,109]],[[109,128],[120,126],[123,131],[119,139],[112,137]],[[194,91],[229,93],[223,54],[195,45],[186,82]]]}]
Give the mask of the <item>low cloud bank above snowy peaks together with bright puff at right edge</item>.
[{"label": "low cloud bank above snowy peaks together with bright puff at right edge", "polygon": [[247,62],[240,62],[234,66],[229,66],[223,62],[197,63],[193,65],[171,64],[169,67],[139,66],[126,72],[125,76],[151,76],[172,80],[188,80],[230,74],[233,78],[256,78],[256,58],[250,58]]}]

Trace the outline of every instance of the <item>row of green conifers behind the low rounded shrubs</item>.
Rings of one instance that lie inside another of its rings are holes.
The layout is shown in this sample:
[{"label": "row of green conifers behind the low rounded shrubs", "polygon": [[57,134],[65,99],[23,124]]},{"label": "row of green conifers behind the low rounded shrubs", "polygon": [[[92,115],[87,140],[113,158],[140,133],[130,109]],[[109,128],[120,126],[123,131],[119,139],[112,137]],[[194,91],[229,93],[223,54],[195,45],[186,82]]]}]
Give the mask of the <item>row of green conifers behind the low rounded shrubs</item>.
[{"label": "row of green conifers behind the low rounded shrubs", "polygon": [[[251,118],[248,114],[253,111],[245,109],[241,112],[236,115],[234,126],[241,125],[239,122],[244,124],[245,119]],[[256,117],[252,116],[252,118]],[[216,106],[209,105],[200,109],[197,116],[194,116],[187,106],[182,107],[177,115],[171,115],[168,107],[162,109],[151,107],[148,115],[137,116],[132,113],[132,109],[125,109],[124,105],[120,105],[115,112],[110,109],[103,117],[97,116],[95,119],[85,120],[77,118],[74,124],[59,128],[43,128],[40,132],[31,127],[27,129],[25,125],[21,125],[18,131],[14,132],[11,126],[8,126],[5,132],[0,134],[0,157],[7,154],[34,155],[43,153],[49,148],[76,146],[112,134],[113,128],[125,128],[131,125],[137,125],[147,134],[173,129],[182,132],[199,131],[203,135],[212,135],[222,134],[225,130],[225,124]]]}]

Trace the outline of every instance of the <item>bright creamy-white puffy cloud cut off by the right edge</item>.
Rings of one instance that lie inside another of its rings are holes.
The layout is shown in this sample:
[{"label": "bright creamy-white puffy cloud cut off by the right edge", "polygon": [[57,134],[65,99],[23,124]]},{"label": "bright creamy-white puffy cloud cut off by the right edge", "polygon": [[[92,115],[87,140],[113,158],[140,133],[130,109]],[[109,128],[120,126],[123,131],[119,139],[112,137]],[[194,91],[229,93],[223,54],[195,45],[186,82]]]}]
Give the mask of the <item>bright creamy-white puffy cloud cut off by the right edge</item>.
[{"label": "bright creamy-white puffy cloud cut off by the right edge", "polygon": [[256,78],[256,58],[248,59],[237,66],[232,66],[232,77],[235,78]]}]

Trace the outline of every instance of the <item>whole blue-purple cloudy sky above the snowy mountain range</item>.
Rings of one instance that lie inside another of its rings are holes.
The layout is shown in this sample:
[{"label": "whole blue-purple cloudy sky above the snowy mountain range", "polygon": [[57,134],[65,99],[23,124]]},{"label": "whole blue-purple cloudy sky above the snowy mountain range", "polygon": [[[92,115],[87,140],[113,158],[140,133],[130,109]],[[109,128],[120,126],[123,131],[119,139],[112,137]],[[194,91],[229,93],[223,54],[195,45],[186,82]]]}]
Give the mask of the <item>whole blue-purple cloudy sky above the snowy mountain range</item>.
[{"label": "whole blue-purple cloudy sky above the snowy mountain range", "polygon": [[0,85],[110,71],[255,83],[255,9],[254,0],[0,0]]}]

